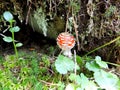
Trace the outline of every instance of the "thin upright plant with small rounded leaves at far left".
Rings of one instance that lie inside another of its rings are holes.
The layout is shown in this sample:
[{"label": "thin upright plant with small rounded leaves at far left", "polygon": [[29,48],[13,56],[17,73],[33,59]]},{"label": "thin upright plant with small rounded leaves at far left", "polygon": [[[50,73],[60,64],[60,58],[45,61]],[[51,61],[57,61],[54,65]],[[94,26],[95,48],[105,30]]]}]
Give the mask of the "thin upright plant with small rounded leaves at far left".
[{"label": "thin upright plant with small rounded leaves at far left", "polygon": [[10,23],[10,25],[8,27],[9,27],[9,31],[12,34],[12,36],[4,36],[3,40],[8,43],[13,42],[15,54],[16,54],[16,57],[18,58],[17,47],[21,47],[22,43],[16,43],[17,41],[15,40],[14,33],[19,32],[20,28],[18,26],[13,26],[13,23],[15,22],[15,20],[13,19],[13,15],[9,11],[5,11],[3,13],[3,17],[6,21],[8,21]]}]

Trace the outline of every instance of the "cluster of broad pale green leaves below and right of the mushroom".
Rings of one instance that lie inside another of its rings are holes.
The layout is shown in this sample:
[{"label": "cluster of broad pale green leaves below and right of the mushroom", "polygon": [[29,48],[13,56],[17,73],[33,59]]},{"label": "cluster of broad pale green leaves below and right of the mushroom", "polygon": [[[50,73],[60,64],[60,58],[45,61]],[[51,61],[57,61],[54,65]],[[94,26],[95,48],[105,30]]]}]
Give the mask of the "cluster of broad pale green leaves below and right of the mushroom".
[{"label": "cluster of broad pale green leaves below and right of the mushroom", "polygon": [[[106,62],[102,61],[100,56],[96,56],[95,59],[81,57],[80,64],[86,62],[85,68],[88,69],[91,73],[90,75],[86,75],[84,73],[73,73],[75,69],[75,63],[65,57],[59,55],[56,62],[56,70],[60,74],[68,74],[70,71],[69,80],[70,83],[66,85],[65,90],[119,90],[120,89],[120,79],[113,73],[105,71],[105,69],[109,69]],[[83,62],[81,61],[83,60]],[[79,61],[79,60],[77,60]],[[88,73],[89,74],[89,73]],[[89,77],[87,77],[89,76]],[[91,79],[92,78],[92,79]]]}]

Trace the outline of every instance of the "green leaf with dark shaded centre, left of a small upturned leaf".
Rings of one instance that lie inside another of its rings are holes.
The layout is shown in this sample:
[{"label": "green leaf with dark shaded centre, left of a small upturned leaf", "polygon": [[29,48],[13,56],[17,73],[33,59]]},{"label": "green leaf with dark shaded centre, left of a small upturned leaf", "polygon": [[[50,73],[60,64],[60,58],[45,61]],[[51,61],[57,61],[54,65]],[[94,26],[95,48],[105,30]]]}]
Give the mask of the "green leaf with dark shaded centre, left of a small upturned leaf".
[{"label": "green leaf with dark shaded centre, left of a small upturned leaf", "polygon": [[90,71],[93,71],[93,72],[96,72],[98,71],[100,68],[100,66],[98,64],[96,64],[95,61],[91,61],[91,62],[87,62],[85,67],[90,70]]}]

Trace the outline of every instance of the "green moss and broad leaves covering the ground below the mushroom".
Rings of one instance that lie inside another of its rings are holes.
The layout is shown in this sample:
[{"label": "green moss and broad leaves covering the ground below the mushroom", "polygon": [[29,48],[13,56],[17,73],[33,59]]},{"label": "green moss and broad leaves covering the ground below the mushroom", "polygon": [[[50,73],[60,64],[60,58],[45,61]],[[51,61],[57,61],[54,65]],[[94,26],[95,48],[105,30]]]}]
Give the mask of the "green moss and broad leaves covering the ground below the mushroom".
[{"label": "green moss and broad leaves covering the ground below the mushroom", "polygon": [[72,60],[37,52],[0,56],[1,90],[120,90],[119,74],[100,56]]}]

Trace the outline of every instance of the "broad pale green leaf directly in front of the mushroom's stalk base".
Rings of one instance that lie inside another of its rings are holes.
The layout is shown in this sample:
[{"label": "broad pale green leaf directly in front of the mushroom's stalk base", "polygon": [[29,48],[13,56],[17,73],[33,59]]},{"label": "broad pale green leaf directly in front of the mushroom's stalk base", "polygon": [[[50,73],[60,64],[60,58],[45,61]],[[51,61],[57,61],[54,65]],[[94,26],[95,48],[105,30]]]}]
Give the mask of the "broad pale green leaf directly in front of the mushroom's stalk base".
[{"label": "broad pale green leaf directly in front of the mushroom's stalk base", "polygon": [[74,66],[74,62],[70,58],[63,55],[59,55],[55,61],[56,70],[60,74],[67,74],[68,71],[73,71]]}]

